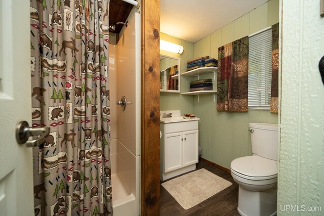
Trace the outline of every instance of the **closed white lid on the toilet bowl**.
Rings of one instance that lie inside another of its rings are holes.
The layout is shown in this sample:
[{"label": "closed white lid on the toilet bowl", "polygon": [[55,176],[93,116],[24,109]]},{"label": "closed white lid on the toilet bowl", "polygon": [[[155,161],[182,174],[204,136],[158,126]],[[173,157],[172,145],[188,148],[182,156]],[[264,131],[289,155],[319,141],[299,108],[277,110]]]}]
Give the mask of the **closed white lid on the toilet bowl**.
[{"label": "closed white lid on the toilet bowl", "polygon": [[231,162],[231,169],[248,177],[273,177],[278,174],[278,163],[260,156],[239,157]]}]

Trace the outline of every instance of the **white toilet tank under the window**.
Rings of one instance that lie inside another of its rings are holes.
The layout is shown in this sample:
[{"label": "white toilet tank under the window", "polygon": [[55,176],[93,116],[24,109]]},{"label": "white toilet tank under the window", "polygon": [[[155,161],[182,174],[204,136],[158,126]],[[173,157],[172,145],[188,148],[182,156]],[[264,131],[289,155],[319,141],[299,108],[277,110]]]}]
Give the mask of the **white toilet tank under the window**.
[{"label": "white toilet tank under the window", "polygon": [[252,153],[271,160],[278,160],[278,125],[249,123]]}]

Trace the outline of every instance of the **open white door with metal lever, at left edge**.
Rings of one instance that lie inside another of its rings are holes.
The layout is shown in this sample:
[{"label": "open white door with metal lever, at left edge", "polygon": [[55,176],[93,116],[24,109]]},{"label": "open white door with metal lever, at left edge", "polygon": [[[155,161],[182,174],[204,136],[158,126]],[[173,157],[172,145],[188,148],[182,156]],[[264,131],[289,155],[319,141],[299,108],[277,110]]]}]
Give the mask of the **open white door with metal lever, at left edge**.
[{"label": "open white door with metal lever, at left edge", "polygon": [[31,123],[29,2],[0,2],[0,214],[33,215],[32,149],[15,139]]}]

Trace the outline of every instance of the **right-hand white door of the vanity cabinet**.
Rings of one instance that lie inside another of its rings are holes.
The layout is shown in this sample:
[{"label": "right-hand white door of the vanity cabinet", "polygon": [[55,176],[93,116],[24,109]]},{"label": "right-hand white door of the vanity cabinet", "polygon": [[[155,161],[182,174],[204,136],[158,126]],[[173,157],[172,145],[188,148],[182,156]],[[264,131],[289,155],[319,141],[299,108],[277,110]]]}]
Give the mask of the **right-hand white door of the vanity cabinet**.
[{"label": "right-hand white door of the vanity cabinet", "polygon": [[183,166],[198,162],[198,130],[183,132]]}]

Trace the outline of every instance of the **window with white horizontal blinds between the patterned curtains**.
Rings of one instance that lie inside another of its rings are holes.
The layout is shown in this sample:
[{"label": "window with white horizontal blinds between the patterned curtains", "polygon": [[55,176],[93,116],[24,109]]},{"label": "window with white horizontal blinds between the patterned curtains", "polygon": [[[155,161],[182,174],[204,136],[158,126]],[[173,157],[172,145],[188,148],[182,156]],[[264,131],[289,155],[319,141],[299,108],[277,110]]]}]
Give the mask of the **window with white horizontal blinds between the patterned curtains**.
[{"label": "window with white horizontal blinds between the patterned curtains", "polygon": [[249,37],[249,109],[270,109],[271,27]]}]

